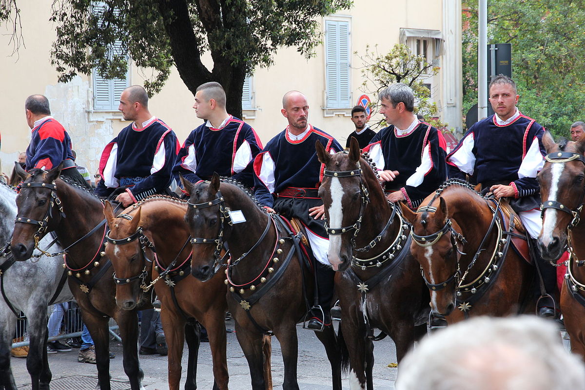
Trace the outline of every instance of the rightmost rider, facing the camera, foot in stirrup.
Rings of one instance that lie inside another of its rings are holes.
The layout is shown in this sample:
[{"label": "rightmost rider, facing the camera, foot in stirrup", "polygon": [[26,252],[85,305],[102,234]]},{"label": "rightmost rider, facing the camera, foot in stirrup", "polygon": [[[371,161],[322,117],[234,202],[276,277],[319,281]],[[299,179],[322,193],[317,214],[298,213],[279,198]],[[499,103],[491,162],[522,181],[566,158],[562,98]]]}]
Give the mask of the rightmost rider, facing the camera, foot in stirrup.
[{"label": "rightmost rider, facing the camera, foot in stirrup", "polygon": [[[544,163],[546,152],[542,136],[545,129],[518,111],[519,95],[510,77],[497,75],[490,82],[489,91],[495,114],[470,127],[455,150],[449,153],[449,176],[464,179],[467,174],[476,177],[482,189],[489,188],[496,198],[511,198],[512,209],[535,240],[542,228],[536,174]],[[554,297],[555,268],[535,254],[546,294]],[[550,298],[540,299],[539,315],[555,316],[553,303]]]}]

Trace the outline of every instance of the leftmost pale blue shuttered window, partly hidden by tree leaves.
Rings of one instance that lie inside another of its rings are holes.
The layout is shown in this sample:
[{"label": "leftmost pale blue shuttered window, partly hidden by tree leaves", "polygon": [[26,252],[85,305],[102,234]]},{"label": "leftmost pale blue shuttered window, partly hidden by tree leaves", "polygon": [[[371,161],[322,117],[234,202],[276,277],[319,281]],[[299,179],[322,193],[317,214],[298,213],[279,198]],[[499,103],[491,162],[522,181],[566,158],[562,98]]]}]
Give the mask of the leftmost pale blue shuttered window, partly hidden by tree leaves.
[{"label": "leftmost pale blue shuttered window, partly hidden by tree leaves", "polygon": [[[106,5],[104,2],[95,2],[93,12],[103,14]],[[122,48],[122,42],[116,41],[110,50],[113,55],[126,55]],[[118,111],[120,95],[122,91],[130,86],[130,66],[126,71],[125,78],[114,78],[107,80],[101,77],[97,71],[92,71],[92,82],[94,86],[94,111]]]}]

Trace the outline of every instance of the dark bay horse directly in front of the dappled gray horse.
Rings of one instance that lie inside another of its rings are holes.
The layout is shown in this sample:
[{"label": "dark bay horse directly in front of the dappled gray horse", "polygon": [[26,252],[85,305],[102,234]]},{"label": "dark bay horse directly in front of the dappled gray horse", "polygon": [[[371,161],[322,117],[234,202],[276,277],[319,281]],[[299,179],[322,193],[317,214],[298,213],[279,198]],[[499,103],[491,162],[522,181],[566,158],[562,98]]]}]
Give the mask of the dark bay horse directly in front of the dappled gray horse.
[{"label": "dark bay horse directly in front of the dappled gray horse", "polygon": [[33,169],[23,182],[16,197],[18,216],[11,241],[12,253],[18,260],[27,260],[40,237],[49,232],[57,234],[67,251],[69,287],[95,343],[99,388],[111,388],[108,321],[112,317],[121,333],[123,365],[130,386],[133,390],[142,389],[138,317],[136,310],[116,306],[113,270],[103,253],[104,207],[90,192],[59,179],[60,171],[60,167],[49,172]]}]

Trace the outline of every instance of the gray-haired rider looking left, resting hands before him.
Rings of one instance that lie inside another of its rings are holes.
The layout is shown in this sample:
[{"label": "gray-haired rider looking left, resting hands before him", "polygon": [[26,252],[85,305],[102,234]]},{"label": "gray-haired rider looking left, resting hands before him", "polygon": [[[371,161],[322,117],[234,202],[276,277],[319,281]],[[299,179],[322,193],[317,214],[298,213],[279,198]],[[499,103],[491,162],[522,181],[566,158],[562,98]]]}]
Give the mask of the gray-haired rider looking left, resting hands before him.
[{"label": "gray-haired rider looking left, resting hands before him", "polygon": [[443,134],[414,114],[414,92],[401,82],[380,92],[380,113],[388,127],[364,148],[376,163],[388,201],[412,209],[447,178]]}]

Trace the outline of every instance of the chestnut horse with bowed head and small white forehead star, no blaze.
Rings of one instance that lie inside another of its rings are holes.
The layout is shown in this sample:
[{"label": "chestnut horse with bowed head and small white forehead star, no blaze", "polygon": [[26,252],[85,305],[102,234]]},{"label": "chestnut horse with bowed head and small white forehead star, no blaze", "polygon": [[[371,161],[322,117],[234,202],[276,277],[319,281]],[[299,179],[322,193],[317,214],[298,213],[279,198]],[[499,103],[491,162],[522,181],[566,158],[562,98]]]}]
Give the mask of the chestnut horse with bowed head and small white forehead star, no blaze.
[{"label": "chestnut horse with bowed head and small white forehead star, no blaze", "polygon": [[[142,302],[150,281],[162,302],[161,320],[168,346],[168,387],[178,390],[181,380],[181,357],[185,341],[185,326],[193,319],[208,330],[213,358],[214,389],[228,388],[226,360],[225,299],[226,287],[222,272],[203,284],[191,277],[191,245],[185,211],[187,203],[168,196],[153,195],[113,215],[106,203],[104,214],[110,232],[106,255],[115,270],[116,303],[132,310]],[[168,271],[168,272],[167,272]],[[160,277],[161,274],[164,275]],[[152,276],[152,277],[151,277]],[[195,351],[196,367],[199,340],[188,339]],[[195,341],[195,343],[194,343]],[[188,384],[185,388],[196,388]]]}]

